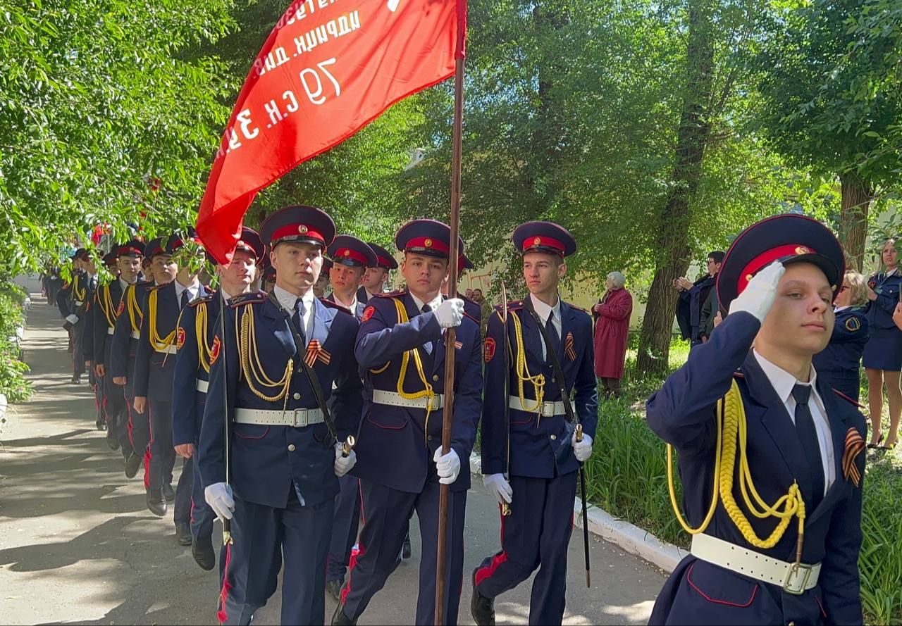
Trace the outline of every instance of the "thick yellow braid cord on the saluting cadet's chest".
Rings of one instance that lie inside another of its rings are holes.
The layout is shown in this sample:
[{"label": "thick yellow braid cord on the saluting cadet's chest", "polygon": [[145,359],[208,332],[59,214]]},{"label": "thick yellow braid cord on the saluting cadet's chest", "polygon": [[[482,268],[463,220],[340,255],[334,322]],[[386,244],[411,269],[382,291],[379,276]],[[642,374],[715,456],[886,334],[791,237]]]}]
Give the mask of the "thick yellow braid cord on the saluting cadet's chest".
[{"label": "thick yellow braid cord on the saluting cadet's chest", "polygon": [[[673,448],[670,444],[667,444],[667,486],[670,491],[670,504],[676,513],[677,521],[689,534],[695,535],[704,532],[713,519],[719,496],[720,502],[723,503],[723,508],[730,515],[730,519],[736,525],[736,528],[741,532],[743,539],[756,548],[769,549],[776,546],[779,540],[783,539],[789,522],[792,521],[793,517],[796,517],[798,518],[796,563],[800,563],[802,541],[805,536],[805,500],[802,499],[802,492],[799,490],[796,482],[789,485],[787,494],[781,496],[773,505],[765,503],[759,495],[751,477],[749,458],[746,453],[748,431],[745,408],[742,405],[742,396],[735,380],[732,381],[732,386],[727,395],[717,401],[715,419],[717,423],[717,445],[714,449],[713,495],[711,507],[698,528],[689,526],[680,512],[679,504],[676,503]],[[779,520],[777,528],[770,533],[769,537],[764,539],[759,538],[755,533],[749,519],[742,513],[739,504],[736,503],[733,494],[733,470],[736,467],[737,442],[739,444],[739,488],[743,504],[759,520],[768,518],[777,518]]]}]

